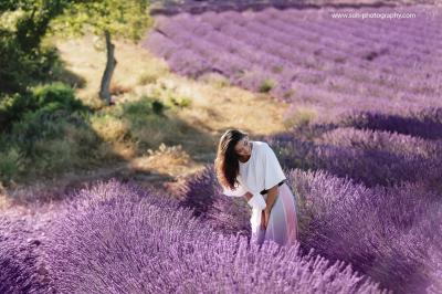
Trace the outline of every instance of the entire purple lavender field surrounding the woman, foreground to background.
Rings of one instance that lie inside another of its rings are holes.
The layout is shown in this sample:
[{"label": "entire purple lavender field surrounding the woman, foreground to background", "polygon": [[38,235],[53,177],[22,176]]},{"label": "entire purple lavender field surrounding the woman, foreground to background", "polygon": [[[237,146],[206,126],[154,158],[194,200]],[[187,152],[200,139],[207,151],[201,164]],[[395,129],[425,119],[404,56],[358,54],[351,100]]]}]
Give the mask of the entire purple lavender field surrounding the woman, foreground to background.
[{"label": "entire purple lavender field surrounding the woman, foreground to background", "polygon": [[212,165],[173,196],[97,181],[0,216],[0,293],[442,293],[441,9],[336,11],[157,15],[144,43],[176,73],[316,114],[255,138],[296,197],[296,245],[251,244],[250,209]]}]

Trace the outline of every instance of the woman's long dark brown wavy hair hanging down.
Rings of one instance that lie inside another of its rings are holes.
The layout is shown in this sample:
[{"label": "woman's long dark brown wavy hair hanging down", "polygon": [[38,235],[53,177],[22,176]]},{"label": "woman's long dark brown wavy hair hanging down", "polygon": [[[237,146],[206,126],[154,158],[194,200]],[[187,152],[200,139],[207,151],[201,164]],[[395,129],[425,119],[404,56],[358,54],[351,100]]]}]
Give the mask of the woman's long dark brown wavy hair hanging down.
[{"label": "woman's long dark brown wavy hair hanging down", "polygon": [[234,151],[234,146],[239,140],[246,137],[249,134],[239,129],[230,128],[221,136],[218,144],[217,158],[214,159],[214,170],[218,181],[232,190],[238,182],[236,176],[240,171],[238,155]]}]

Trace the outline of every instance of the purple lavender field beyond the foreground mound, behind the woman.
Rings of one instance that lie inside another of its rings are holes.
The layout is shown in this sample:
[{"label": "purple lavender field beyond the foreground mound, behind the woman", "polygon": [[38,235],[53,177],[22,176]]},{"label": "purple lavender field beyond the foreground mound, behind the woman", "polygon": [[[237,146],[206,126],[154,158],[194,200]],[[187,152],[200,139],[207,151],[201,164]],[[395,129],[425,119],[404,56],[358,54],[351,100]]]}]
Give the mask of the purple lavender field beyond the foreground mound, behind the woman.
[{"label": "purple lavender field beyond the foreground mound, behind the woman", "polygon": [[[343,11],[414,18],[338,18]],[[299,246],[348,262],[394,293],[441,293],[441,12],[398,6],[159,15],[144,45],[176,73],[218,73],[288,103],[287,117],[314,113],[263,138],[302,203]],[[220,227],[220,211],[230,208],[199,191],[200,183],[188,203]],[[223,231],[245,230],[221,216]]]}]

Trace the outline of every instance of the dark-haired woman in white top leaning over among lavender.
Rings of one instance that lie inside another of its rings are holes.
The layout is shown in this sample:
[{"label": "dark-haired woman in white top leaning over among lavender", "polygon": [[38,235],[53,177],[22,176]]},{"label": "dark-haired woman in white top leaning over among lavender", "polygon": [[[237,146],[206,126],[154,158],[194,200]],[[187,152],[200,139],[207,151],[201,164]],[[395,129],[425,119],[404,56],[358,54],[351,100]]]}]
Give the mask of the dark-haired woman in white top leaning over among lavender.
[{"label": "dark-haired woman in white top leaning over among lavender", "polygon": [[295,198],[267,143],[249,140],[246,133],[228,129],[220,138],[214,165],[223,193],[244,197],[252,207],[252,242],[295,243]]}]

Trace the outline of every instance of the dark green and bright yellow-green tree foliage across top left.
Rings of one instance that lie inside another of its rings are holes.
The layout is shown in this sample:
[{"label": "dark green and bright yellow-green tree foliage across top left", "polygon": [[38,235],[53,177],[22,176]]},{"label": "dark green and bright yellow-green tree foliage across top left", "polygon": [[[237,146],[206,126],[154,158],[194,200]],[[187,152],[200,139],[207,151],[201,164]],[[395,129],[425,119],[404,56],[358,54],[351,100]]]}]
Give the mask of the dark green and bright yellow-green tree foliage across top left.
[{"label": "dark green and bright yellow-green tree foliage across top left", "polygon": [[104,31],[139,40],[151,23],[146,0],[2,0],[0,1],[0,93],[24,92],[48,82],[57,63],[53,46],[42,46],[48,32]]}]

